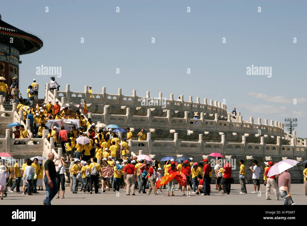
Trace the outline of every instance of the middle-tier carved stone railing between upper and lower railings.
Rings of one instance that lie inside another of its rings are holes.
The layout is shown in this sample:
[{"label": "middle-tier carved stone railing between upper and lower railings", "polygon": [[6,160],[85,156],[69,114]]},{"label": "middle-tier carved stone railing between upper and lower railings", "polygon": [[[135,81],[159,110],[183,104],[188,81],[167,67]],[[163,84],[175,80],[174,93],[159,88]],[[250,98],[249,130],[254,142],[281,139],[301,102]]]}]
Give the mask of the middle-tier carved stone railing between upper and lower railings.
[{"label": "middle-tier carved stone railing between upper and lower railings", "polygon": [[[121,128],[127,126],[139,127],[139,128],[159,128],[159,129],[195,129],[195,130],[214,130],[221,132],[241,132],[241,133],[257,133],[266,134],[273,136],[284,137],[283,124],[278,124],[275,121],[275,126],[273,125],[273,120],[270,121],[271,125],[262,125],[261,119],[258,119],[259,124],[246,123],[243,121],[233,122],[231,121],[231,116],[228,115],[227,121],[220,121],[219,116],[215,114],[215,120],[204,119],[204,113],[200,113],[200,119],[190,119],[188,118],[188,112],[185,111],[184,118],[173,118],[170,116],[170,110],[167,110],[166,117],[152,117],[151,110],[147,109],[147,116],[134,116],[130,114],[130,108],[126,108],[126,115],[113,115],[108,114],[108,108],[104,107],[103,114],[92,114],[89,113],[88,117],[94,122],[102,122],[106,125],[116,124]],[[199,124],[190,124],[190,122]],[[253,118],[250,118],[253,121]],[[265,120],[267,123],[267,119]]]}]

